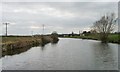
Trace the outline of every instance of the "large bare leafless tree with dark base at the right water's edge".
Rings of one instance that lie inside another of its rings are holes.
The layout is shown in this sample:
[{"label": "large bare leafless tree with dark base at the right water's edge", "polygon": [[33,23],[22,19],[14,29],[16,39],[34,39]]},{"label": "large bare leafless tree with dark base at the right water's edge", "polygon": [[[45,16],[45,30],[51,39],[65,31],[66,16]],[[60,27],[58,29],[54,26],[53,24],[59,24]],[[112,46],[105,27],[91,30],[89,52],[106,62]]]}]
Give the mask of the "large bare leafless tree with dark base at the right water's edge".
[{"label": "large bare leafless tree with dark base at the right water's edge", "polygon": [[104,15],[100,20],[93,24],[92,30],[99,33],[99,37],[102,42],[107,42],[108,35],[114,30],[116,24],[115,14]]}]

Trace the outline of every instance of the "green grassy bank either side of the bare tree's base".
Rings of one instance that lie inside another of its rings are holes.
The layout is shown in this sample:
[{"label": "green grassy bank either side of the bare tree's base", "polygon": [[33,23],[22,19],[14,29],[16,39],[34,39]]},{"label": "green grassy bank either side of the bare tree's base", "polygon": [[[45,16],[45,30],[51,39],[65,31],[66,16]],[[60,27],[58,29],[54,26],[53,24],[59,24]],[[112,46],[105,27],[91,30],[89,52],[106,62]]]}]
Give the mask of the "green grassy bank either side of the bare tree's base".
[{"label": "green grassy bank either side of the bare tree's base", "polygon": [[[98,35],[89,34],[86,36],[65,36],[65,38],[80,38],[80,39],[91,39],[91,40],[100,40]],[[108,36],[108,42],[120,44],[120,34],[110,34]]]}]

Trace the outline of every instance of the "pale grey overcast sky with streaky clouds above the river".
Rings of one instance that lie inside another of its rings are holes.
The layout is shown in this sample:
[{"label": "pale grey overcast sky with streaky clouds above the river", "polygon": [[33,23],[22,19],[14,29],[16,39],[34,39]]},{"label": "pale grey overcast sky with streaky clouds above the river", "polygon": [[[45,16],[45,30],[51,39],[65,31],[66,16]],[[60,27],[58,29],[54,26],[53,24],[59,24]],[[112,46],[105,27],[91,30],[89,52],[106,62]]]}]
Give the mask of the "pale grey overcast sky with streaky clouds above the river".
[{"label": "pale grey overcast sky with streaky clouds above the river", "polygon": [[[27,35],[78,33],[90,30],[92,24],[106,13],[117,14],[117,2],[3,2],[2,22],[9,22],[8,34]],[[3,26],[2,34],[5,34]]]}]

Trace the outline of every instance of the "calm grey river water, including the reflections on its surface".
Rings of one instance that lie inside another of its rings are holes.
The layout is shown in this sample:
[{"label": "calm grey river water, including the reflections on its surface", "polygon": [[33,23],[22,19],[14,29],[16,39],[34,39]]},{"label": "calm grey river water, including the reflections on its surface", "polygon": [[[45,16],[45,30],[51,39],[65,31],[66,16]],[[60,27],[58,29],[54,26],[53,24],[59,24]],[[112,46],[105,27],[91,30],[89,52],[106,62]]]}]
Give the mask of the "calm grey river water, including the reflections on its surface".
[{"label": "calm grey river water, including the reflections on its surface", "polygon": [[118,44],[60,38],[1,59],[3,70],[117,70]]}]

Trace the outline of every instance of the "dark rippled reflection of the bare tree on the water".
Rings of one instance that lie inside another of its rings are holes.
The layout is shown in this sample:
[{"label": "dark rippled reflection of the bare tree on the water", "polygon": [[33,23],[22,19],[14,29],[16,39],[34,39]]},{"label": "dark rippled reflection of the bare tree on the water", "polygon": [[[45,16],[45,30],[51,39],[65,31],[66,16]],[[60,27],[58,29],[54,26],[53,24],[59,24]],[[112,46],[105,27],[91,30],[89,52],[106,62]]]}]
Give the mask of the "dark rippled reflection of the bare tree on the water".
[{"label": "dark rippled reflection of the bare tree on the water", "polygon": [[100,69],[113,69],[117,67],[117,57],[114,55],[114,50],[110,44],[106,43],[94,43],[93,45],[95,63],[97,68]]}]

